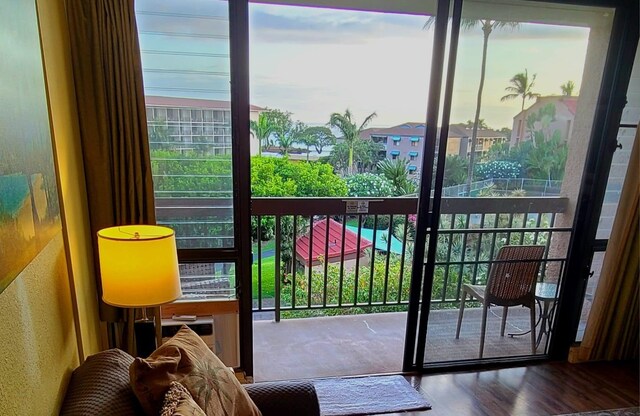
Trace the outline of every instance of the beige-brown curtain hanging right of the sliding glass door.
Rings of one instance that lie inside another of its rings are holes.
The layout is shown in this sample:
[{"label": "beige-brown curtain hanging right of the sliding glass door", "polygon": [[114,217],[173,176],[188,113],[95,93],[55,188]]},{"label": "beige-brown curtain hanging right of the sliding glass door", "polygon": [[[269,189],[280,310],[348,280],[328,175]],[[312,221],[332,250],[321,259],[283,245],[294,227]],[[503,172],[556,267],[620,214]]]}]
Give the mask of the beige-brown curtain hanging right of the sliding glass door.
[{"label": "beige-brown curtain hanging right of the sliding glass door", "polygon": [[[640,126],[639,126],[640,127]],[[631,151],[615,222],[582,343],[572,361],[638,358],[640,133]]]}]

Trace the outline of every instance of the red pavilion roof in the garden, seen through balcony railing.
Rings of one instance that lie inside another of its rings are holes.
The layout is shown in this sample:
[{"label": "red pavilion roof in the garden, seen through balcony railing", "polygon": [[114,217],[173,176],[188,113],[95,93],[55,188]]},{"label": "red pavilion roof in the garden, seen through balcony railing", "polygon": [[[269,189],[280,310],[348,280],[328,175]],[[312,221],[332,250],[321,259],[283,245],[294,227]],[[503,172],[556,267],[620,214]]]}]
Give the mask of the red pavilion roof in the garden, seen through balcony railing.
[{"label": "red pavilion roof in the garden, seen through balcony railing", "polygon": [[[316,262],[319,258],[341,258],[342,250],[342,224],[329,219],[329,245],[325,252],[327,237],[327,220],[319,220],[313,224],[313,244],[311,260]],[[360,253],[364,249],[371,247],[371,241],[360,237]],[[355,254],[358,249],[358,235],[353,231],[344,230],[344,255]],[[299,237],[296,241],[296,256],[305,264],[309,264],[309,236]]]}]

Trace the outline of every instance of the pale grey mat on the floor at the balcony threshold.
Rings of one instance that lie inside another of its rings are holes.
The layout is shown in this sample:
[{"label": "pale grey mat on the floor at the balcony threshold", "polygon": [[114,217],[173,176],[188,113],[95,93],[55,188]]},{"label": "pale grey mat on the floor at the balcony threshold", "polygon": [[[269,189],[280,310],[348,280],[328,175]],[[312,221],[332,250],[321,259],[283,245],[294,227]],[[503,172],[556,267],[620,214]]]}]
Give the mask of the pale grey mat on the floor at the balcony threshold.
[{"label": "pale grey mat on the floor at the balcony threshold", "polygon": [[402,376],[331,378],[313,383],[322,416],[354,416],[430,409]]}]

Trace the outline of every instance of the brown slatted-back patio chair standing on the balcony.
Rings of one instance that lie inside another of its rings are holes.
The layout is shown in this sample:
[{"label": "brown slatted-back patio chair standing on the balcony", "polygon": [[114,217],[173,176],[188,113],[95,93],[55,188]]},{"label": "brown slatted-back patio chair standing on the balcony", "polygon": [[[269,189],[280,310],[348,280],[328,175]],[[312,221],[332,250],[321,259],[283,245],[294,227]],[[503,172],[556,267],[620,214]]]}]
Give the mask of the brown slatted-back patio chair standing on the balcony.
[{"label": "brown slatted-back patio chair standing on the balcony", "polygon": [[[535,290],[544,246],[503,246],[498,251],[496,262],[489,269],[487,285],[462,285],[462,299],[458,315],[456,339],[460,338],[462,315],[467,294],[482,303],[482,329],[480,332],[480,358],[484,352],[484,337],[487,329],[487,311],[491,305],[502,306],[502,327],[504,336],[507,311],[510,306],[525,306],[531,316],[531,353],[536,352]],[[527,261],[530,260],[530,261]]]}]

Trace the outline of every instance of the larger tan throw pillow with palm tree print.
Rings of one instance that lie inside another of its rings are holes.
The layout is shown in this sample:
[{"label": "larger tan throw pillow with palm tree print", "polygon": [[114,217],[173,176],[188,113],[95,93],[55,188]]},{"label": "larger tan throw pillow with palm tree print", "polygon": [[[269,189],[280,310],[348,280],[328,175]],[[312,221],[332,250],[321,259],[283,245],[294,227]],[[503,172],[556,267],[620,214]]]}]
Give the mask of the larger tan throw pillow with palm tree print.
[{"label": "larger tan throw pillow with palm tree print", "polygon": [[136,358],[129,373],[131,387],[149,415],[160,412],[172,381],[185,386],[207,415],[260,415],[233,372],[186,325],[148,358]]}]

